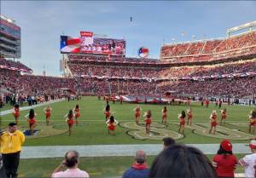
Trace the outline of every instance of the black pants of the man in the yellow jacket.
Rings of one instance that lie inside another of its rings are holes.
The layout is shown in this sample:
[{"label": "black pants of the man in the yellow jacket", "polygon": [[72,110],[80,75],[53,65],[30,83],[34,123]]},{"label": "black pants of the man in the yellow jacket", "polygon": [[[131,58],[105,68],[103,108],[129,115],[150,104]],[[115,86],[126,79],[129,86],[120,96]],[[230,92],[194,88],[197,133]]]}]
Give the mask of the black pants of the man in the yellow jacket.
[{"label": "black pants of the man in the yellow jacket", "polygon": [[2,154],[3,167],[7,177],[17,177],[17,169],[20,163],[20,152]]}]

